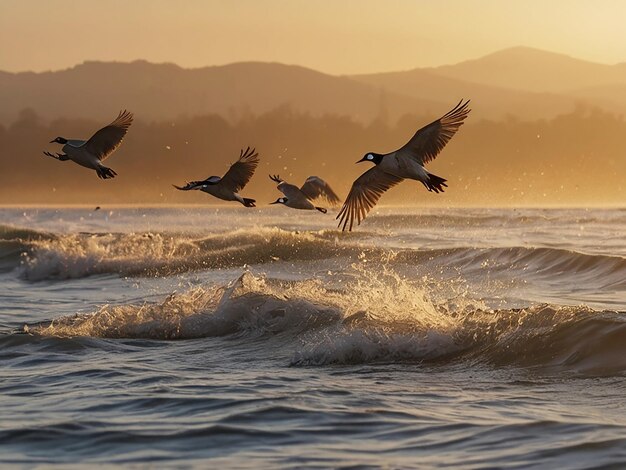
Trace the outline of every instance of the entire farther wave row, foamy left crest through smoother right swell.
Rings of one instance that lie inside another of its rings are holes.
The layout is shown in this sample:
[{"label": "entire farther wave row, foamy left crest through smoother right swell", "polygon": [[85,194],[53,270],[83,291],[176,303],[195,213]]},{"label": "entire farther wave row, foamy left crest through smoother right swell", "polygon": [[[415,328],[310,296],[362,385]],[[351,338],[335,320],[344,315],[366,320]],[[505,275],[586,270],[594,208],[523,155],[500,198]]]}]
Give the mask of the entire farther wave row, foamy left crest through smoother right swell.
[{"label": "entire farther wave row, foamy left crest through smoother right swell", "polygon": [[[0,269],[16,269],[28,281],[98,274],[167,276],[187,271],[304,262],[337,257],[379,264],[428,265],[464,274],[504,271],[517,276],[571,275],[578,284],[626,285],[626,258],[550,247],[390,248],[368,232],[240,229],[194,237],[167,233],[67,234],[28,232],[0,241]],[[4,267],[4,268],[2,268]],[[516,274],[515,274],[516,273]],[[572,281],[574,282],[574,281]]]}]

